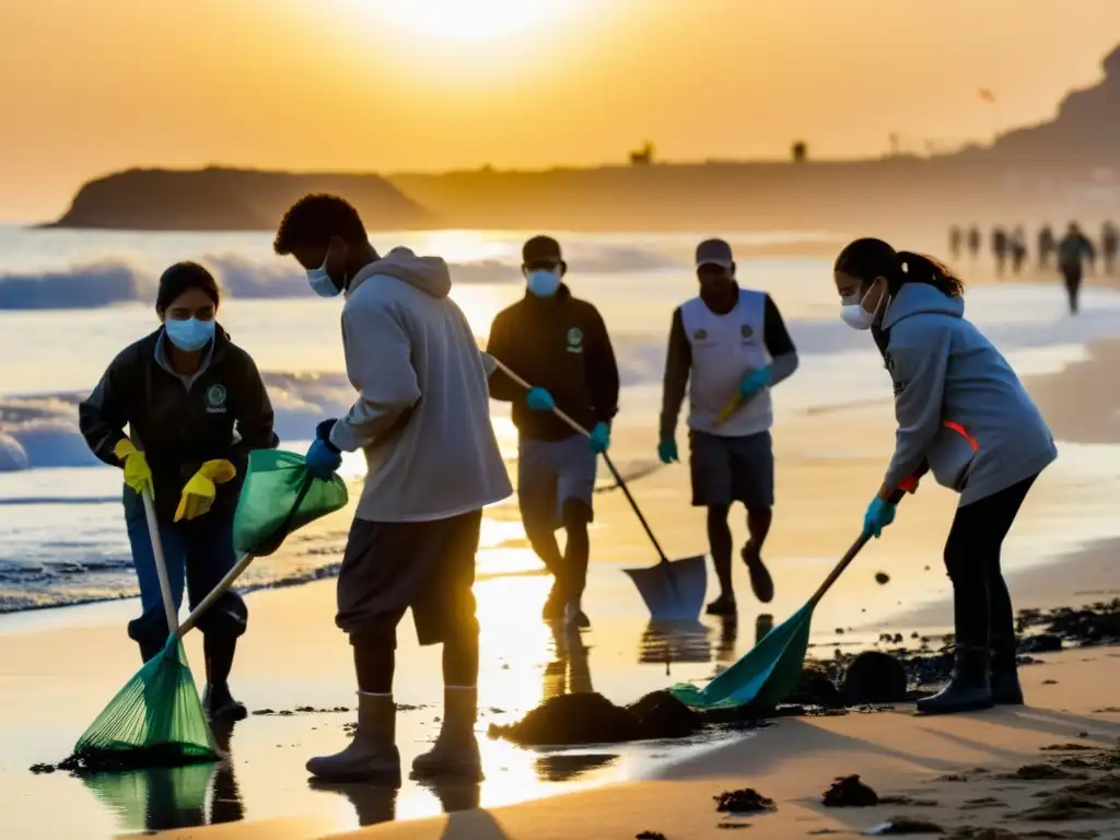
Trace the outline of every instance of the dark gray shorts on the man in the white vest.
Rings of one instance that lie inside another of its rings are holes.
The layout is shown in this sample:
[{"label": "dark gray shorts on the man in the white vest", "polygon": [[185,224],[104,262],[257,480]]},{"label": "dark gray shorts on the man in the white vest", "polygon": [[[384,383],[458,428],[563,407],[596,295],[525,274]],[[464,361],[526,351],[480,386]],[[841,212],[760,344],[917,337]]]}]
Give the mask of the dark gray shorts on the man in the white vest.
[{"label": "dark gray shorts on the man in the white vest", "polygon": [[692,504],[743,502],[747,510],[774,506],[774,448],[768,431],[741,438],[689,432]]}]

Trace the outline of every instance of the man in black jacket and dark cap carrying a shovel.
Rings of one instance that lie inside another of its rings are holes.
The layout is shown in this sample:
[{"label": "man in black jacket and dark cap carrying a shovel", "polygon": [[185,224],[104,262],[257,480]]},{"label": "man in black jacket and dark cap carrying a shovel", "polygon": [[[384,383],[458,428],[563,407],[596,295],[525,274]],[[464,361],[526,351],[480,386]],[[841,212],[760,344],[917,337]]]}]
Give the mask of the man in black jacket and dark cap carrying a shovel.
[{"label": "man in black jacket and dark cap carrying a shovel", "polygon": [[[525,534],[556,581],[544,618],[589,626],[581,598],[587,582],[596,455],[610,445],[618,411],[618,365],[598,310],[561,282],[568,270],[560,244],[534,236],[522,249],[524,299],[498,312],[487,352],[531,382],[525,392],[501,371],[491,396],[513,403],[517,444],[517,498]],[[588,441],[552,413],[559,408],[585,429]],[[563,554],[556,530],[567,532]]]}]

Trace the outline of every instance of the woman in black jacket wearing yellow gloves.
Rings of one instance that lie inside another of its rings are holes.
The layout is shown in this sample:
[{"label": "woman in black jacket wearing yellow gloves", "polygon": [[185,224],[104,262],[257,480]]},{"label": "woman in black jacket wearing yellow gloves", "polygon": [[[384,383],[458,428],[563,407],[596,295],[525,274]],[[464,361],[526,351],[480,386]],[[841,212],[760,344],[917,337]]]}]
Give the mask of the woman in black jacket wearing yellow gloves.
[{"label": "woman in black jacket wearing yellow gloves", "polygon": [[[129,636],[144,662],[167,642],[167,618],[139,494],[155,498],[176,606],[184,578],[195,606],[235,562],[233,514],[249,450],[278,444],[264,383],[249,354],[217,325],[218,302],[206,269],[171,265],[156,299],[162,326],[125,347],[78,409],[93,452],[124,469],[124,522],[143,610],[129,623]],[[199,623],[203,704],[212,720],[245,715],[227,679],[246,619],[244,601],[230,591]]]}]

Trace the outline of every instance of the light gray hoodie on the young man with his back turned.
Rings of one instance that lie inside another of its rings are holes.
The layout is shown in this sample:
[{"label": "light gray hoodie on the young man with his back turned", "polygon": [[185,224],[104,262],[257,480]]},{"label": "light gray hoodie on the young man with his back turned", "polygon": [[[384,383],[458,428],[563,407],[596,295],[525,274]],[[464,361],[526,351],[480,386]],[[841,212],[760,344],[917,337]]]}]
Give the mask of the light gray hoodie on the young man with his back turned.
[{"label": "light gray hoodie on the young man with his back turned", "polygon": [[358,519],[441,520],[513,492],[478,345],[450,290],[441,259],[398,248],[346,291],[346,375],[358,398],[330,441],[365,450]]}]

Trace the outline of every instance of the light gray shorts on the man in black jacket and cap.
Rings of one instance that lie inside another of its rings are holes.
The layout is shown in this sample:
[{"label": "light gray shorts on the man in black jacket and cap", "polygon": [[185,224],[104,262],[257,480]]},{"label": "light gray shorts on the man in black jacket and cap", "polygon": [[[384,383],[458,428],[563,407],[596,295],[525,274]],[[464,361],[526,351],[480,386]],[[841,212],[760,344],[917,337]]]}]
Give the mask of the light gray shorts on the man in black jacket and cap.
[{"label": "light gray shorts on the man in black jacket and cap", "polygon": [[577,500],[587,505],[588,515],[595,497],[595,470],[598,456],[582,435],[563,440],[517,442],[517,503],[526,528],[563,524],[563,505]]}]

